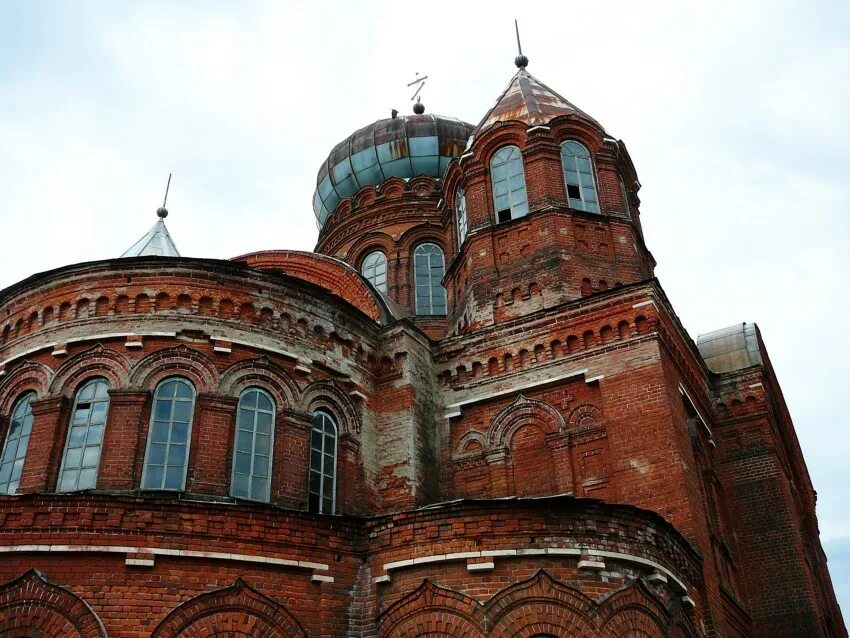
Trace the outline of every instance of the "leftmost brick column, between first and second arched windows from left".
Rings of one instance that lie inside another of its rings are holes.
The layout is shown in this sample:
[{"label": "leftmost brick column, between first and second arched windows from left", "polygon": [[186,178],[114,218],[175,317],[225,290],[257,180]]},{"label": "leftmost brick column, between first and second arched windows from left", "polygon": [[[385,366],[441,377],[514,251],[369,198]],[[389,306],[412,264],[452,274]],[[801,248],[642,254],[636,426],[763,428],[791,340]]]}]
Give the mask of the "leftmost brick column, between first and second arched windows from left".
[{"label": "leftmost brick column, between first and second arched windows from left", "polygon": [[68,400],[65,397],[48,397],[33,401],[32,434],[18,494],[25,492],[53,492],[56,473],[68,424]]}]

